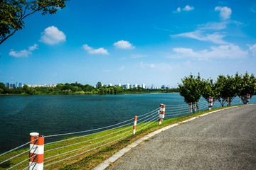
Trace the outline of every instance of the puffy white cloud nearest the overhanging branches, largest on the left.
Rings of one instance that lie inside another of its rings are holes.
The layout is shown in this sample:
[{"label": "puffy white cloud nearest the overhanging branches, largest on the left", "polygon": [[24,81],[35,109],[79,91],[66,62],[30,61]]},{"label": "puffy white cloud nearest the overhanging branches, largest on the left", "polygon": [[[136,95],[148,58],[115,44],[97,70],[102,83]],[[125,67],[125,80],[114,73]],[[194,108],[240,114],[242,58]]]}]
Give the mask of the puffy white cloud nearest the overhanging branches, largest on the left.
[{"label": "puffy white cloud nearest the overhanging branches, largest on the left", "polygon": [[55,45],[66,40],[66,35],[55,26],[46,28],[41,34],[39,41],[48,45]]}]

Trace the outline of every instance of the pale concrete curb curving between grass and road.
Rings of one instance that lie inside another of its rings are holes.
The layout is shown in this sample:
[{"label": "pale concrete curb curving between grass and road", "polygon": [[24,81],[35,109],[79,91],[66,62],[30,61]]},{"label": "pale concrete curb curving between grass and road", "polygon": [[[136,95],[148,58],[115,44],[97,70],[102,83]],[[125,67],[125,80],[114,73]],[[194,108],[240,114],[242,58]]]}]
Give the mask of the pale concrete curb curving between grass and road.
[{"label": "pale concrete curb curving between grass and road", "polygon": [[[238,106],[232,106],[230,108],[238,108]],[[180,123],[175,123],[173,125],[168,125],[164,128],[161,128],[159,130],[156,130],[154,132],[151,132],[149,133],[148,135],[140,138],[139,140],[136,140],[135,142],[132,142],[132,144],[128,145],[127,147],[124,147],[123,149],[119,150],[119,152],[115,153],[112,155],[112,157],[106,159],[104,162],[102,162],[101,164],[99,164],[98,166],[96,166],[93,170],[104,170],[106,169],[108,166],[110,166],[110,164],[114,163],[117,159],[119,159],[119,157],[122,157],[125,153],[129,152],[130,149],[136,147],[137,145],[139,145],[140,143],[142,143],[144,140],[148,140],[150,137],[153,137],[154,135],[156,134],[159,134],[160,132],[164,132],[165,130],[168,130],[170,128],[173,128],[175,127],[176,125],[180,125],[180,124],[183,124],[183,123],[187,123],[191,120],[194,120],[196,118],[201,118],[205,115],[209,115],[211,113],[215,113],[215,112],[219,112],[219,111],[224,111],[226,109],[230,109],[230,108],[223,108],[223,109],[220,109],[218,111],[212,111],[212,112],[209,112],[209,113],[205,113],[203,115],[198,115],[196,117],[193,117],[193,118],[189,118],[187,120],[183,120],[182,122]]]}]

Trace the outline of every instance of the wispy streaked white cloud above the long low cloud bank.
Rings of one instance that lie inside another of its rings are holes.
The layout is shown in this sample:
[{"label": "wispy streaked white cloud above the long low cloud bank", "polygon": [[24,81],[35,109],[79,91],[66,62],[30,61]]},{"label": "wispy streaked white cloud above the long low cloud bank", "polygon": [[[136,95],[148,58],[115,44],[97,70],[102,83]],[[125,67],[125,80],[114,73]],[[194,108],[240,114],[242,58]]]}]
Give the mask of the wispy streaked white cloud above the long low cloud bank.
[{"label": "wispy streaked white cloud above the long low cloud bank", "polygon": [[201,41],[214,42],[215,44],[228,44],[228,42],[225,42],[223,40],[225,35],[217,32],[211,33],[211,34],[204,34],[201,30],[171,35],[171,37],[186,37],[186,38],[194,38],[196,40],[201,40]]}]

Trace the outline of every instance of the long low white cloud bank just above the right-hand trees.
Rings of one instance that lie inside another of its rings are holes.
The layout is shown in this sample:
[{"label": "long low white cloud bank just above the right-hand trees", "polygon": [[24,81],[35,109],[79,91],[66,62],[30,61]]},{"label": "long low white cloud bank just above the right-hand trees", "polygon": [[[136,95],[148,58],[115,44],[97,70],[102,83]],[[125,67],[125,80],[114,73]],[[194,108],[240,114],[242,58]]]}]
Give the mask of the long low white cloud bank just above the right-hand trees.
[{"label": "long low white cloud bank just above the right-hand trees", "polygon": [[191,48],[177,47],[173,49],[179,58],[196,58],[198,60],[218,60],[223,58],[238,59],[245,58],[248,51],[243,51],[237,45],[220,45],[218,47],[210,47],[210,50],[194,51]]}]

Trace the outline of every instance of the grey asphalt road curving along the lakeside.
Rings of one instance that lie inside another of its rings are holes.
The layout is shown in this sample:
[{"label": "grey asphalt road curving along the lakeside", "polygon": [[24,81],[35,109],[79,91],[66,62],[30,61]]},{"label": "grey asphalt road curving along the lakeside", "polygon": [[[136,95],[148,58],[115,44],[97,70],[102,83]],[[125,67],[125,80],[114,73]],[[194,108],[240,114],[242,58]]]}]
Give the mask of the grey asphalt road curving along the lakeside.
[{"label": "grey asphalt road curving along the lakeside", "polygon": [[256,169],[256,105],[219,111],[161,132],[108,169]]}]

